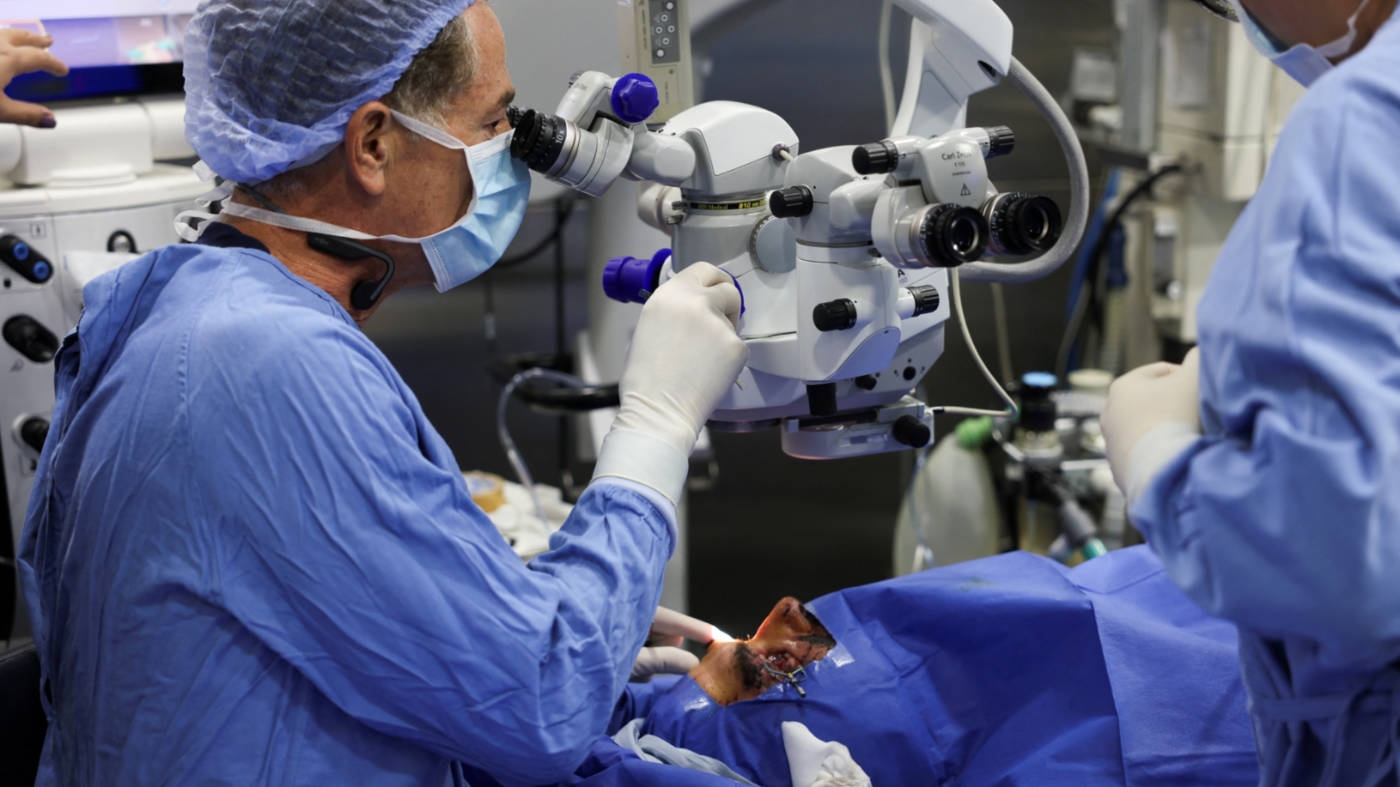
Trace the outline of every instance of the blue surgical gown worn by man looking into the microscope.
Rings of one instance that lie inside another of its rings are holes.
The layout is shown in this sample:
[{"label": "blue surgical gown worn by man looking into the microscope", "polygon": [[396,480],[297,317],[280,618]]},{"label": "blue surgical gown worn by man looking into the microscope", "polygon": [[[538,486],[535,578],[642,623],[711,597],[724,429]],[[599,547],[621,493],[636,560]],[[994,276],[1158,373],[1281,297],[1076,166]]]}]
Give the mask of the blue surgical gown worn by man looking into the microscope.
[{"label": "blue surgical gown worn by man looking into the microscope", "polygon": [[21,546],[39,783],[567,777],[647,636],[673,508],[596,483],[522,564],[350,315],[211,237],[90,284],[56,361]]}]

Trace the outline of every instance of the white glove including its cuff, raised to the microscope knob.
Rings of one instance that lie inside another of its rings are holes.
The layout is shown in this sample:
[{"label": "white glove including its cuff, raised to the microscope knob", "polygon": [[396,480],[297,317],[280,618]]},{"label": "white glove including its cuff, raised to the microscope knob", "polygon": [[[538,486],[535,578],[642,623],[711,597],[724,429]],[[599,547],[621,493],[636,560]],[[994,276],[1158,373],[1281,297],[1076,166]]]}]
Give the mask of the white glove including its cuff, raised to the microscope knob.
[{"label": "white glove including its cuff, raised to the microscope knob", "polygon": [[739,309],[734,280],[708,263],[657,287],[631,337],[617,385],[622,406],[595,479],[631,480],[679,501],[700,429],[749,360]]}]

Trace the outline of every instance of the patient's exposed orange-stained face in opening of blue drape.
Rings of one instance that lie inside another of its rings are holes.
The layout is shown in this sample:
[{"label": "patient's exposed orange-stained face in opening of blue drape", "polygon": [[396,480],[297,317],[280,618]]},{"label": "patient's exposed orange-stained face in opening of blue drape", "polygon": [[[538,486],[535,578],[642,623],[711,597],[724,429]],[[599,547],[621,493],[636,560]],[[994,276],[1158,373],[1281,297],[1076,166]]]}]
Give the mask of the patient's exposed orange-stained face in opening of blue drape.
[{"label": "patient's exposed orange-stained face in opening of blue drape", "polygon": [[750,700],[833,647],[836,640],[822,622],[795,598],[784,598],[753,639],[711,644],[690,676],[720,704]]}]

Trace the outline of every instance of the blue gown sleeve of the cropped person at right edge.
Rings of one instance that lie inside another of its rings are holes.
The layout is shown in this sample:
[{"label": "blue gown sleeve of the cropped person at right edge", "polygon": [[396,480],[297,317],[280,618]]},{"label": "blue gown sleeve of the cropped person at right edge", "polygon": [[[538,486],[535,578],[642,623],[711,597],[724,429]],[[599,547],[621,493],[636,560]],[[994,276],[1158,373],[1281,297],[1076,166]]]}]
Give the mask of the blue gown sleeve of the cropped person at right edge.
[{"label": "blue gown sleeve of the cropped person at right edge", "polygon": [[1289,122],[1201,305],[1207,436],[1131,515],[1208,612],[1380,667],[1400,643],[1400,182],[1373,146],[1400,113],[1368,80],[1324,81]]}]

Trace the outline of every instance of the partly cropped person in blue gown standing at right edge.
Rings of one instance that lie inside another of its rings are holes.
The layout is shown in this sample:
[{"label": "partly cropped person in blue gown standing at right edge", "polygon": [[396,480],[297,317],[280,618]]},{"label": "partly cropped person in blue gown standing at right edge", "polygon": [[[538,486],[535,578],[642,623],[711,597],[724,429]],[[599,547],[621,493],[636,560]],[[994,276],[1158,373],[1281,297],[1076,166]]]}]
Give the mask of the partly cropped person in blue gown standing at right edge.
[{"label": "partly cropped person in blue gown standing at right edge", "polygon": [[1239,626],[1261,783],[1400,783],[1400,18],[1233,0],[1309,87],[1226,241],[1198,353],[1103,416],[1134,524]]}]

